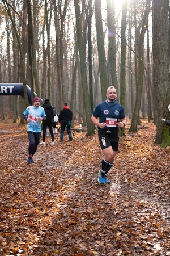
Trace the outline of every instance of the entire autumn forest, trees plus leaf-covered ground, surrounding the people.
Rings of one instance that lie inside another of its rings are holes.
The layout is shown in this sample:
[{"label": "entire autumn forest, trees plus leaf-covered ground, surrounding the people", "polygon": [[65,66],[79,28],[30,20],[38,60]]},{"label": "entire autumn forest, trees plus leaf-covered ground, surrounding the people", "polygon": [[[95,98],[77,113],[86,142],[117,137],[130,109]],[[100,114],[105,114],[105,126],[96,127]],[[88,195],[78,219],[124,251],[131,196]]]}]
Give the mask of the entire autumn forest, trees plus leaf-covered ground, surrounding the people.
[{"label": "entire autumn forest, trees plus leaf-covered ground, surrounding the people", "polygon": [[1,83],[27,84],[58,111],[67,100],[89,135],[114,84],[128,119],[100,186],[97,134],[47,137],[29,165],[27,94],[0,97],[0,255],[170,255],[169,0],[118,2],[0,0]]}]

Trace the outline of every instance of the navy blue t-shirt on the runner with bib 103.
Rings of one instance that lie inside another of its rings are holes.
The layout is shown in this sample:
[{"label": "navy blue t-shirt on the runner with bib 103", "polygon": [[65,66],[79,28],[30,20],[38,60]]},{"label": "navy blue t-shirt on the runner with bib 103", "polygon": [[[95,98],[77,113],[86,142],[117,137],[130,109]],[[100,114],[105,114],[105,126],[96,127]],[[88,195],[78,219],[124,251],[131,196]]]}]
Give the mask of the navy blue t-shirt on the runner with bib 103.
[{"label": "navy blue t-shirt on the runner with bib 103", "polygon": [[107,102],[101,102],[96,106],[92,113],[96,118],[99,117],[100,123],[107,123],[105,129],[113,131],[117,129],[118,119],[125,118],[124,108],[117,102],[108,104]]}]

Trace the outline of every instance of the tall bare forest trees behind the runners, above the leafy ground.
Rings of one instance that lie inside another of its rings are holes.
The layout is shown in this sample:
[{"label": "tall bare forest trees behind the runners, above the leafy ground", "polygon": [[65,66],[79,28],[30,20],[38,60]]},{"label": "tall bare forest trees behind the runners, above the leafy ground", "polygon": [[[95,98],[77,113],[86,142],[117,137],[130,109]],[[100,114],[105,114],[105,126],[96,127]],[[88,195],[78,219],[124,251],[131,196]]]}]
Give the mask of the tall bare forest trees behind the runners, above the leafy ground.
[{"label": "tall bare forest trees behind the runners, above the leafy ground", "polygon": [[147,116],[155,144],[170,145],[161,120],[169,117],[169,0],[118,2],[1,0],[0,82],[24,85],[24,99],[0,97],[1,118],[22,116],[28,85],[58,112],[67,100],[92,135],[92,111],[114,85],[130,132]]}]

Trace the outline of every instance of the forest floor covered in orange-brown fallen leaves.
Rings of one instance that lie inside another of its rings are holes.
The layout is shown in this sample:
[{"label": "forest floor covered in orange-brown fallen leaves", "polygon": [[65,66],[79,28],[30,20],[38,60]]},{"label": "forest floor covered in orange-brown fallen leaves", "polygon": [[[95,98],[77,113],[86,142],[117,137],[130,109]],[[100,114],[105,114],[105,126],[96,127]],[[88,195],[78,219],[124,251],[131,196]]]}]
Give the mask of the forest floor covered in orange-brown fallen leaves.
[{"label": "forest floor covered in orange-brown fallen leaves", "polygon": [[47,136],[28,164],[24,126],[1,122],[0,255],[170,255],[170,148],[143,124],[128,123],[108,185],[97,132]]}]

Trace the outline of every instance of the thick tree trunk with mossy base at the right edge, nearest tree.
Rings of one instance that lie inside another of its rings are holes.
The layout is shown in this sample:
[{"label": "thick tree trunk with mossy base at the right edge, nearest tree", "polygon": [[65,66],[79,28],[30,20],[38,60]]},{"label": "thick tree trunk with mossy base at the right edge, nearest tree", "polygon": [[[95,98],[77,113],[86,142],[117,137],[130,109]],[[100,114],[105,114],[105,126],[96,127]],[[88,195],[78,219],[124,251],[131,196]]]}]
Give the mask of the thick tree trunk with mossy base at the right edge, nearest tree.
[{"label": "thick tree trunk with mossy base at the right edge, nearest tree", "polygon": [[161,118],[168,119],[169,90],[169,0],[154,2],[153,24],[153,76],[156,110],[155,144],[170,145],[168,127]]}]

